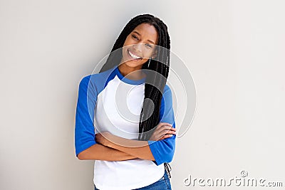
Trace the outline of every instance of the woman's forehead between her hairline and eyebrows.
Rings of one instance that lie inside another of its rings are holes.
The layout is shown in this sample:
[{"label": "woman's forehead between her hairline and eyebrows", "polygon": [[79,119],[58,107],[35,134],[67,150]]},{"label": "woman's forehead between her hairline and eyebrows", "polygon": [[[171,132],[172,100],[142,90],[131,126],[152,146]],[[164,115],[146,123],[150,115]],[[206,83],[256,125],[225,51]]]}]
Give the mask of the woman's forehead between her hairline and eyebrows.
[{"label": "woman's forehead between her hairline and eyebrows", "polygon": [[140,34],[142,38],[145,38],[145,40],[154,41],[157,43],[158,41],[158,33],[155,28],[155,26],[150,25],[149,23],[140,23],[133,32],[136,31]]}]

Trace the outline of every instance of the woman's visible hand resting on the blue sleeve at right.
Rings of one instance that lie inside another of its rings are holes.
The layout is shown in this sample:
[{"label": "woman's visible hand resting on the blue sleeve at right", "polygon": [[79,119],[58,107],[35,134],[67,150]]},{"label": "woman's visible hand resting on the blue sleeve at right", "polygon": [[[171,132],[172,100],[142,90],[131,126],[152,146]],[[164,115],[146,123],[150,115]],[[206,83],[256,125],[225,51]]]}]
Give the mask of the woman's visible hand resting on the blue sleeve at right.
[{"label": "woman's visible hand resting on the blue sleeve at right", "polygon": [[152,133],[152,136],[150,137],[149,140],[153,141],[162,140],[172,137],[175,134],[176,134],[176,129],[172,127],[172,125],[170,125],[167,122],[160,122],[160,124],[157,125],[155,132]]}]

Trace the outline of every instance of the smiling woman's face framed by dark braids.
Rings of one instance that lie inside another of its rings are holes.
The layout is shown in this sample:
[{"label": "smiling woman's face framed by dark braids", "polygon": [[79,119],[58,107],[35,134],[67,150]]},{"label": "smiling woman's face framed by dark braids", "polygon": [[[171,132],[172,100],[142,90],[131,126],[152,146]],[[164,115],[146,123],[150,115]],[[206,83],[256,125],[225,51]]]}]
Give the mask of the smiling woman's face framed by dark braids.
[{"label": "smiling woman's face framed by dark braids", "polygon": [[121,63],[141,68],[150,57],[155,58],[157,41],[158,33],[155,26],[141,23],[125,39]]}]

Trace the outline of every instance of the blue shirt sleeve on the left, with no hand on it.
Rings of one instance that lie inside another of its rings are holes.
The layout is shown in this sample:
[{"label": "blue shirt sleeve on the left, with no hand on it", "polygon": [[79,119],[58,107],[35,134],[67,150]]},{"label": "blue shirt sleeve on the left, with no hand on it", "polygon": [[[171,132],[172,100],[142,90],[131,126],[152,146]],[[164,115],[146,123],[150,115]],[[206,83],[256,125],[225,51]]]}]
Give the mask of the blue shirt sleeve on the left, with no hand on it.
[{"label": "blue shirt sleeve on the left, with no hand on it", "polygon": [[90,75],[84,77],[79,84],[75,126],[76,157],[83,150],[96,144],[94,111],[97,91],[89,81]]}]

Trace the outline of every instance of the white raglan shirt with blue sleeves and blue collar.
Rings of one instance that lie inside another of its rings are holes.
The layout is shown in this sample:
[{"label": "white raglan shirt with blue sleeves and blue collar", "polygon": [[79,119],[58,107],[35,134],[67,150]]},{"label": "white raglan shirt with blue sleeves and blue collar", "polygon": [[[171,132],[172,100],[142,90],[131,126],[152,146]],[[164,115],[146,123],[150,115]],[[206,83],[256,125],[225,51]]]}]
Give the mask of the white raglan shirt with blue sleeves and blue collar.
[{"label": "white raglan shirt with blue sleeves and blue collar", "polygon": [[[124,78],[118,66],[82,78],[76,107],[76,156],[97,143],[95,134],[98,132],[108,131],[126,139],[138,139],[144,96],[145,78]],[[175,127],[172,93],[168,85],[162,93],[160,122],[168,122]],[[173,135],[159,141],[147,141],[155,161],[139,158],[95,160],[95,186],[100,190],[126,190],[154,183],[165,173],[163,163],[172,161],[175,139],[176,135]]]}]

